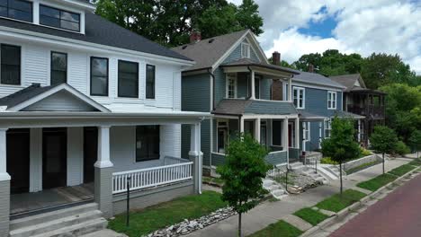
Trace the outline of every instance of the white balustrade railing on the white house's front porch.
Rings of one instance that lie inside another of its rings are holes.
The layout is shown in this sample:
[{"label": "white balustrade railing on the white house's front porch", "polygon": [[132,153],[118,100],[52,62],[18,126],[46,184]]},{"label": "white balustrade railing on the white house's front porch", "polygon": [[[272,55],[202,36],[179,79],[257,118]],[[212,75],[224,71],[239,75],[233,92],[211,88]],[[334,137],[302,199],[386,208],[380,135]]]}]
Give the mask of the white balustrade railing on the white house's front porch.
[{"label": "white balustrade railing on the white house's front porch", "polygon": [[[179,160],[178,160],[179,159]],[[169,159],[174,162],[174,159]],[[158,166],[136,171],[112,173],[112,194],[127,191],[127,180],[130,180],[130,190],[147,189],[160,185],[171,184],[183,180],[193,180],[193,162],[176,158],[178,163]]]}]

